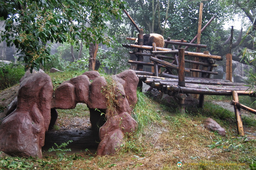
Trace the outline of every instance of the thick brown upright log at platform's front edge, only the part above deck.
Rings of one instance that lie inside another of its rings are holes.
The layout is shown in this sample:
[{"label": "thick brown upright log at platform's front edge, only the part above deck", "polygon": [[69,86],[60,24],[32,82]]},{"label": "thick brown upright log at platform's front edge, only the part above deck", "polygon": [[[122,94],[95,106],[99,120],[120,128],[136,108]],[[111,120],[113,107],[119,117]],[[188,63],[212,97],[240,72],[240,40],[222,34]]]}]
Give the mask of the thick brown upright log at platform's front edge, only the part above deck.
[{"label": "thick brown upright log at platform's front edge, only the part above deck", "polygon": [[179,48],[179,70],[178,70],[178,85],[185,86],[185,50],[184,48]]}]

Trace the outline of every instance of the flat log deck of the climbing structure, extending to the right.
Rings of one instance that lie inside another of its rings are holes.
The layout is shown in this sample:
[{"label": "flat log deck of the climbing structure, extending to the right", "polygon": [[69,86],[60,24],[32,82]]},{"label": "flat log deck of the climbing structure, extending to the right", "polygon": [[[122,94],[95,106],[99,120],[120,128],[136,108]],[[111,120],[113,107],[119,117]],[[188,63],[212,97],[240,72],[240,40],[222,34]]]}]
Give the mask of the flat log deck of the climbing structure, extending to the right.
[{"label": "flat log deck of the climbing structure, extending to the right", "polygon": [[[232,91],[236,90],[238,95],[254,96],[255,92],[244,83],[233,83],[229,80],[185,77],[185,86],[178,85],[178,76],[170,74],[160,74],[161,77],[140,75],[140,71],[135,71],[140,80],[147,85],[161,90],[165,94],[204,94],[232,96]],[[169,77],[169,78],[168,78]]]}]

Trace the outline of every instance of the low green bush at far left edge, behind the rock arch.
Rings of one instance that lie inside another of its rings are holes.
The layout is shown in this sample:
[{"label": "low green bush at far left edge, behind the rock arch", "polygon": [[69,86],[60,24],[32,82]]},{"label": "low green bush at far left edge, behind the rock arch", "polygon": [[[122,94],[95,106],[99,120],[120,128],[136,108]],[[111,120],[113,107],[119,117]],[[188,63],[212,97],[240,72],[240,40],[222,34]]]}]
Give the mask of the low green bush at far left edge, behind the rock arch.
[{"label": "low green bush at far left edge, behind the rock arch", "polygon": [[21,64],[4,64],[0,62],[0,90],[11,87],[24,76],[24,66]]}]

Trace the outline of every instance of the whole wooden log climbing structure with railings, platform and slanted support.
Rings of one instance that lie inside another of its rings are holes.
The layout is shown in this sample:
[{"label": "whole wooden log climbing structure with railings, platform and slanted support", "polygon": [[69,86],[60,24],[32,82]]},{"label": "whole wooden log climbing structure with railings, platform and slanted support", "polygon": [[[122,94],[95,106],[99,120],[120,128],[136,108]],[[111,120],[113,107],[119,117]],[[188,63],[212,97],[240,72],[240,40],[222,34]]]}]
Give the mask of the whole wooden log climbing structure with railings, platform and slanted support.
[{"label": "whole wooden log climbing structure with railings, platform and slanted support", "polygon": [[[139,32],[138,45],[123,44],[123,47],[132,49],[130,54],[137,57],[137,61],[129,60],[128,63],[137,65],[135,72],[140,80],[138,87],[142,88],[142,82],[144,82],[152,88],[175,97],[179,103],[180,112],[185,111],[184,101],[191,94],[199,99],[199,107],[204,105],[204,95],[232,96],[233,100],[230,104],[234,105],[237,132],[240,136],[244,136],[240,108],[246,108],[247,111],[254,114],[256,114],[256,111],[241,105],[238,96],[256,97],[255,91],[250,90],[244,83],[211,79],[211,75],[218,74],[218,72],[213,71],[213,68],[217,67],[216,61],[222,60],[223,57],[209,54],[208,51],[200,52],[201,48],[206,48],[207,46],[199,44],[200,41],[197,38],[200,38],[201,32],[210,24],[214,17],[202,29],[201,25],[198,25],[198,34],[189,43],[184,39],[171,40],[171,38],[167,38],[165,40],[165,48],[160,48],[156,47],[155,43],[152,46],[144,46],[143,29],[139,29],[127,12],[126,14]],[[135,40],[136,38],[127,37],[126,39]],[[197,44],[192,44],[195,39],[197,39]],[[169,45],[171,45],[171,48],[168,48]],[[175,48],[175,45],[178,47]],[[186,51],[188,47],[197,48],[197,52]],[[145,56],[148,56],[151,62],[144,62]],[[143,71],[144,66],[151,66],[152,71]],[[161,68],[164,68],[165,71],[160,72]]]}]

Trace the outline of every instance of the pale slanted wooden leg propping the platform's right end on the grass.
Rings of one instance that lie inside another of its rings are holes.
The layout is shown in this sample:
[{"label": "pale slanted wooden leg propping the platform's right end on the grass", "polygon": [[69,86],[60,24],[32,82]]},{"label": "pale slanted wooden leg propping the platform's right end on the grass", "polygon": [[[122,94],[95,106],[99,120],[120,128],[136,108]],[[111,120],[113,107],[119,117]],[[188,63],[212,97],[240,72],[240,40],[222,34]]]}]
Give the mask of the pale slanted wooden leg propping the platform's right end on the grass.
[{"label": "pale slanted wooden leg propping the platform's right end on the grass", "polygon": [[[232,90],[232,96],[233,96],[233,100],[235,102],[239,102],[238,101],[238,94],[237,91]],[[244,136],[244,132],[243,132],[243,123],[242,123],[242,119],[241,119],[241,111],[240,108],[234,106],[234,110],[235,110],[235,116],[236,116],[236,124],[237,124],[237,133],[240,136]]]}]

